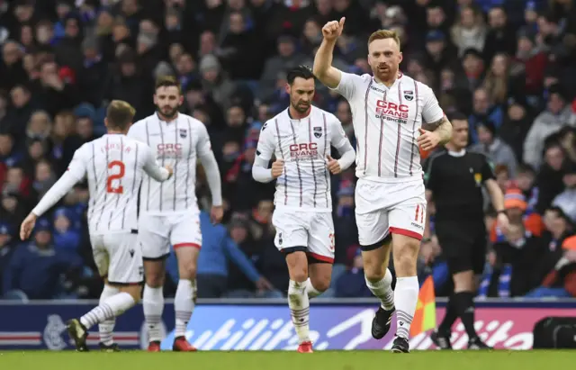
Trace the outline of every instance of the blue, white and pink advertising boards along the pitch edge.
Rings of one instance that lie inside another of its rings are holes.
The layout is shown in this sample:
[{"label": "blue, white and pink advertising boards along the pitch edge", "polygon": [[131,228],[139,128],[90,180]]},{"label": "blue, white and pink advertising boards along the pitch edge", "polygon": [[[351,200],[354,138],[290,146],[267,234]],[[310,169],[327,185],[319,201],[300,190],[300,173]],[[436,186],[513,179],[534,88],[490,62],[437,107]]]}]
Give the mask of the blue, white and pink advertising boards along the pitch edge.
[{"label": "blue, white and pink advertising boards along the pitch edge", "polygon": [[[444,301],[437,302],[437,320],[444,316]],[[97,304],[96,301],[0,301],[0,350],[71,349],[65,322]],[[311,307],[311,339],[314,349],[387,349],[392,346],[395,320],[382,340],[370,334],[374,300],[315,300]],[[476,329],[486,344],[496,348],[532,348],[532,329],[546,316],[575,316],[576,300],[477,302]],[[174,333],[174,305],[167,302],[163,316],[166,338],[161,347],[170,350]],[[167,329],[166,329],[167,328]],[[88,344],[98,344],[98,331],[90,331]],[[467,336],[458,321],[453,347],[464,348]],[[200,350],[293,350],[297,337],[286,303],[280,301],[199,302],[186,337]],[[148,334],[141,306],[116,320],[115,341],[125,349],[144,348]],[[433,349],[429,331],[411,338],[412,349]]]}]

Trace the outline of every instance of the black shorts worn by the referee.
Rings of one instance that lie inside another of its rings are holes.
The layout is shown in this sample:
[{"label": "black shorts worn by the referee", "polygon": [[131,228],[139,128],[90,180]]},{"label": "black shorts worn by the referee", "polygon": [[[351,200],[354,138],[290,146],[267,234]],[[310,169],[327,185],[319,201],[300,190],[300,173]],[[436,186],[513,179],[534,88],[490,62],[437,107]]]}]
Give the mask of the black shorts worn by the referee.
[{"label": "black shorts worn by the referee", "polygon": [[450,274],[482,274],[487,244],[483,222],[437,221],[435,229]]}]

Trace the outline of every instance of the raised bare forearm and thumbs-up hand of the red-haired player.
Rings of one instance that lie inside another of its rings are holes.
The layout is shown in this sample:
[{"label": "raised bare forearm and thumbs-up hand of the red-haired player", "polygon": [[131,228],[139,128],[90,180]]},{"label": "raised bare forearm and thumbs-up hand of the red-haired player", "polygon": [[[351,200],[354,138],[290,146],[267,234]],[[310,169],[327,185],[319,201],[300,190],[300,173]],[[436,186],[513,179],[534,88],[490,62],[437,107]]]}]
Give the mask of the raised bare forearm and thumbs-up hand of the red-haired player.
[{"label": "raised bare forearm and thumbs-up hand of the red-haired player", "polygon": [[344,29],[346,18],[342,17],[340,22],[331,21],[322,27],[324,40],[314,57],[314,67],[312,71],[320,82],[329,88],[337,88],[342,78],[342,72],[338,68],[332,67],[332,56],[338,37]]}]

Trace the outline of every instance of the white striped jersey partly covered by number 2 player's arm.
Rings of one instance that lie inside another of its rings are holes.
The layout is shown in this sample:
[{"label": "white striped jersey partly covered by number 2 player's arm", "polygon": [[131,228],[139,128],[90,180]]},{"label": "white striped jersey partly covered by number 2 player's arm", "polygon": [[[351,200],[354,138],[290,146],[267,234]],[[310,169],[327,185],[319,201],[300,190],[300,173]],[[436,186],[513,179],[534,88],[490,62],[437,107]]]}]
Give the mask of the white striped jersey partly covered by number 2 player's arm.
[{"label": "white striped jersey partly covered by number 2 player's arm", "polygon": [[178,113],[172,122],[160,120],[157,113],[132,125],[130,138],[146,143],[162,166],[174,167],[174,175],[160,183],[147,177],[140,190],[140,211],[151,213],[196,210],[196,160],[211,151],[204,124]]}]

